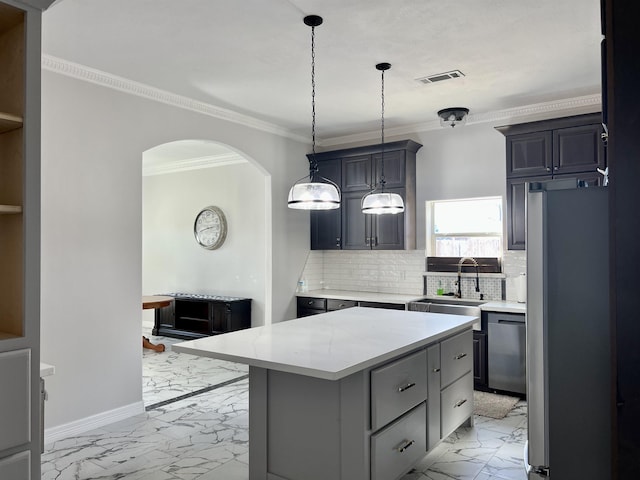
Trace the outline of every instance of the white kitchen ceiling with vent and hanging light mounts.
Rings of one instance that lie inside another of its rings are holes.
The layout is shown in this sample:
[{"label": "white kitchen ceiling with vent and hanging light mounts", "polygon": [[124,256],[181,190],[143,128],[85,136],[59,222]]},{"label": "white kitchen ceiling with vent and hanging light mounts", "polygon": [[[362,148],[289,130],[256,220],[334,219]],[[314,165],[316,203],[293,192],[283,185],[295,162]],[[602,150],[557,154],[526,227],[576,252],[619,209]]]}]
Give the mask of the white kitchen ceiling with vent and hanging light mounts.
[{"label": "white kitchen ceiling with vent and hanging light mounts", "polygon": [[[58,0],[43,53],[318,139],[600,93],[599,0]],[[465,77],[417,78],[459,69]]]}]

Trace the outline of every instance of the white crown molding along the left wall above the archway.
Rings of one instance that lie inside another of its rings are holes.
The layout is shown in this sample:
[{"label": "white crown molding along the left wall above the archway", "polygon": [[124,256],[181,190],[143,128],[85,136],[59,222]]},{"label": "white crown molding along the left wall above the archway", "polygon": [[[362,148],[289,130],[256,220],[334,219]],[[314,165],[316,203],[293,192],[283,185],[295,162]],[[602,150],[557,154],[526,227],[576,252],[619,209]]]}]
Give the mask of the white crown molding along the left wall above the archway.
[{"label": "white crown molding along the left wall above the archway", "polygon": [[79,63],[70,62],[52,55],[42,55],[42,68],[77,80],[82,80],[102,87],[128,93],[130,95],[146,98],[147,100],[153,100],[155,102],[171,105],[172,107],[191,110],[193,112],[237,123],[255,130],[261,130],[281,137],[290,138],[298,142],[309,143],[309,138],[295,134],[279,125],[265,122],[249,115],[243,115],[241,113],[234,112],[233,110],[216,107],[209,103],[193,100],[182,95],[176,95],[175,93],[167,92],[166,90],[151,87],[144,83],[135,82],[128,78],[112,75],[110,73],[96,70]]}]

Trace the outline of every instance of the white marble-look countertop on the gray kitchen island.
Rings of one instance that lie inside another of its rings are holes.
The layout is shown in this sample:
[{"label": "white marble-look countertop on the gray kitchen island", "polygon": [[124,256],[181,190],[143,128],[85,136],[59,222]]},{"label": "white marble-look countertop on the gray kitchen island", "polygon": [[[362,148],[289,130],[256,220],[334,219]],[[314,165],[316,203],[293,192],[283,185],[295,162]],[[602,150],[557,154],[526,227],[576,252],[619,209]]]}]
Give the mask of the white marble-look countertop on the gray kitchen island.
[{"label": "white marble-look countertop on the gray kitchen island", "polygon": [[180,353],[338,380],[471,328],[476,317],[354,307],[172,345]]}]

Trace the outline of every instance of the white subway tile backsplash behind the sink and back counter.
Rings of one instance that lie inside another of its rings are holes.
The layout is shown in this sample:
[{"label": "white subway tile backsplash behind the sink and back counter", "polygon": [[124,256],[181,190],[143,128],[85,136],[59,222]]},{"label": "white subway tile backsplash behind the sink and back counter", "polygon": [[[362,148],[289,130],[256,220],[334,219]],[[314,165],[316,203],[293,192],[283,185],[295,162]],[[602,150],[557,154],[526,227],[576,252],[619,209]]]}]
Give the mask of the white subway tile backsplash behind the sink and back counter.
[{"label": "white subway tile backsplash behind the sink and back counter", "polygon": [[[525,252],[504,252],[502,265],[502,275],[480,275],[480,292],[487,300],[515,301],[515,278],[525,271]],[[441,283],[445,291],[455,291],[456,274],[424,273],[424,250],[311,250],[300,278],[308,290],[435,295]],[[479,298],[475,276],[463,276],[462,296]]]}]

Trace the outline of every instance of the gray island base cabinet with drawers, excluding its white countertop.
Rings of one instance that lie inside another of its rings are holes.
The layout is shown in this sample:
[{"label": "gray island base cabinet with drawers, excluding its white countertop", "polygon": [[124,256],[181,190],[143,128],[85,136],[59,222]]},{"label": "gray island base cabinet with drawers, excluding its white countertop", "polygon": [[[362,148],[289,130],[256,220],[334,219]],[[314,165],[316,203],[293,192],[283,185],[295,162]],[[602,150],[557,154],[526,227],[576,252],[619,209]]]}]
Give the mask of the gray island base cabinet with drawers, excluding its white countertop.
[{"label": "gray island base cabinet with drawers, excluding its white countertop", "polygon": [[473,424],[472,340],[468,329],[335,381],[250,366],[249,479],[402,477]]}]

